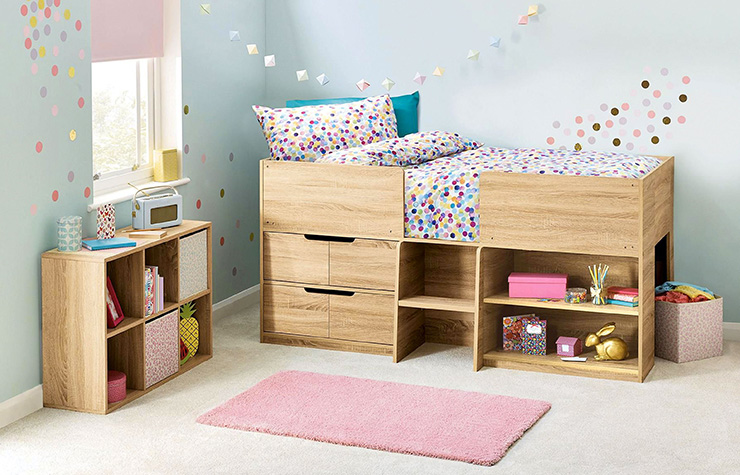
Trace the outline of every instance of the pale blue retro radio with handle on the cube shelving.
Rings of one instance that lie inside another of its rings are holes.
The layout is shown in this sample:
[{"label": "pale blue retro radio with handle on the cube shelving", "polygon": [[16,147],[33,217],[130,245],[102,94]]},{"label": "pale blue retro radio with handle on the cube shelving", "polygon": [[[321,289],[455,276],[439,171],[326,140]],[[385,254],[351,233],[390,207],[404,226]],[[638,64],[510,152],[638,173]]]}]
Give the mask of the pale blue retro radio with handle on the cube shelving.
[{"label": "pale blue retro radio with handle on the cube shelving", "polygon": [[[149,194],[144,190],[166,188]],[[139,196],[143,193],[146,196]],[[152,186],[136,191],[131,200],[131,227],[134,229],[167,228],[182,224],[182,195],[171,186]]]}]

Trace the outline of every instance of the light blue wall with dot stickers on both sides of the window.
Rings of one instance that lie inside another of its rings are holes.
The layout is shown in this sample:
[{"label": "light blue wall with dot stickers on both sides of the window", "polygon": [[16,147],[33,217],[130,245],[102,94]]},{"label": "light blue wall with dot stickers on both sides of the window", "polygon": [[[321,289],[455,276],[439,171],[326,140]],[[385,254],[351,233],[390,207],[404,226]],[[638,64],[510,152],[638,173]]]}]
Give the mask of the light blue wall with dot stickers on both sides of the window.
[{"label": "light blue wall with dot stickers on both sides of the window", "polygon": [[[90,2],[63,0],[58,22],[53,16],[57,8],[53,1],[47,2],[52,17],[40,17],[39,40],[32,45],[43,45],[46,55],[35,61],[24,44],[25,26],[33,38],[29,24],[33,13],[21,15],[21,6],[31,3],[0,2],[0,216],[5,223],[0,247],[0,360],[4,362],[0,402],[41,383],[40,254],[56,246],[56,219],[79,215],[86,235],[95,232],[95,215],[86,211],[92,197],[85,197],[85,188],[92,187]],[[262,102],[265,76],[261,56],[247,55],[246,44],[264,46],[265,2],[214,0],[210,16],[200,15],[200,3],[182,2],[183,98],[191,110],[183,120],[184,142],[190,146],[183,168],[192,182],[180,192],[186,218],[213,221],[213,286],[218,302],[259,282],[258,159],[267,152],[250,107]],[[70,20],[64,19],[66,9]],[[44,34],[46,24],[51,28],[49,36]],[[229,41],[230,30],[239,30],[242,41]],[[61,41],[62,31],[66,41]],[[58,56],[54,46],[59,48]],[[38,65],[35,75],[33,63]],[[56,77],[51,74],[52,65],[59,68]],[[69,77],[70,66],[75,67],[74,78]],[[41,87],[47,88],[45,98]],[[83,108],[78,107],[80,97]],[[56,116],[53,105],[58,107]],[[74,142],[69,139],[71,129],[77,132]],[[41,153],[35,150],[37,141],[43,142]],[[69,172],[74,173],[72,181]],[[201,200],[200,209],[196,209],[197,200]],[[117,206],[118,227],[130,224],[130,213],[130,204]],[[250,242],[251,233],[255,240]]]}]

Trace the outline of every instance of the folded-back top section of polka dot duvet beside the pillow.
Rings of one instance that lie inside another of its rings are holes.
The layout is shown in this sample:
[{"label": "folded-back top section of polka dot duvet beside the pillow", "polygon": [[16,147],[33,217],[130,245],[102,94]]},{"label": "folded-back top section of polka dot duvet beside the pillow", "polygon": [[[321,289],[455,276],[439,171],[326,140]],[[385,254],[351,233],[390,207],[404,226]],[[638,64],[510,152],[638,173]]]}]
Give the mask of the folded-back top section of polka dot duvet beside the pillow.
[{"label": "folded-back top section of polka dot duvet beside the pillow", "polygon": [[366,147],[331,152],[317,158],[316,162],[405,167],[476,149],[481,145],[450,132],[419,132]]}]

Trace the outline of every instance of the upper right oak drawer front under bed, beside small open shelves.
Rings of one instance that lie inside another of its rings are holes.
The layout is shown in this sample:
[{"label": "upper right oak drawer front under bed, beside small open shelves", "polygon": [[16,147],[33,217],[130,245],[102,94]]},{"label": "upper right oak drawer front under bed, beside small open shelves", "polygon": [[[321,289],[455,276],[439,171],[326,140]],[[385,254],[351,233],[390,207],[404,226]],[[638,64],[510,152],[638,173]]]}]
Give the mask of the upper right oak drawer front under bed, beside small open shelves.
[{"label": "upper right oak drawer front under bed, beside small open shelves", "polygon": [[354,239],[329,244],[329,284],[362,289],[396,288],[396,241]]}]

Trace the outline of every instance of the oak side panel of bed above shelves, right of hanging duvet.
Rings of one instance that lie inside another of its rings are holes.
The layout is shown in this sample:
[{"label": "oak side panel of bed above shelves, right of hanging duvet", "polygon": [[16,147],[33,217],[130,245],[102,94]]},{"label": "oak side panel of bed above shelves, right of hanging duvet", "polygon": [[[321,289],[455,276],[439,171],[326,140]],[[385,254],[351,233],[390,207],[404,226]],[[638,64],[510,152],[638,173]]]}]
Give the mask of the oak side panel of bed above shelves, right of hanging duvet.
[{"label": "oak side panel of bed above shelves, right of hanging duvet", "polygon": [[640,180],[484,172],[481,242],[502,248],[638,256]]}]

